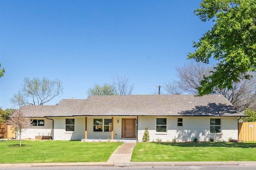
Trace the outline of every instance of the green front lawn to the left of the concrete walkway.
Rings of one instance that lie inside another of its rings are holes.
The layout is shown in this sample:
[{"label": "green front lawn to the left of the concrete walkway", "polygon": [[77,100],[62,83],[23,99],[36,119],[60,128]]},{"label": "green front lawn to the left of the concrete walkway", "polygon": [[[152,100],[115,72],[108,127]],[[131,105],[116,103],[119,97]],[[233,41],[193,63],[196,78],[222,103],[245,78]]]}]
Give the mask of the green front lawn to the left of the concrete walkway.
[{"label": "green front lawn to the left of the concrete walkway", "polygon": [[0,164],[106,162],[122,143],[80,141],[0,141]]}]

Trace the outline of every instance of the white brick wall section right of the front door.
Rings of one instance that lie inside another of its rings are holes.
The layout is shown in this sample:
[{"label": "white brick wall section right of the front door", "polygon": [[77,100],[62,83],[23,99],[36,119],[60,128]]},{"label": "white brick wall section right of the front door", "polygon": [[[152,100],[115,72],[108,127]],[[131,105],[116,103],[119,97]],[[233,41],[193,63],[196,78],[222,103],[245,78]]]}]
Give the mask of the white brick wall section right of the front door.
[{"label": "white brick wall section right of the front door", "polygon": [[[166,118],[166,133],[156,132],[156,118]],[[177,125],[178,118],[183,119],[183,126]],[[210,119],[221,119],[221,133],[210,133]],[[238,139],[238,117],[138,117],[138,141],[142,141],[145,127],[148,127],[150,141],[162,139],[162,141],[177,142],[193,141],[228,141],[228,138]]]}]

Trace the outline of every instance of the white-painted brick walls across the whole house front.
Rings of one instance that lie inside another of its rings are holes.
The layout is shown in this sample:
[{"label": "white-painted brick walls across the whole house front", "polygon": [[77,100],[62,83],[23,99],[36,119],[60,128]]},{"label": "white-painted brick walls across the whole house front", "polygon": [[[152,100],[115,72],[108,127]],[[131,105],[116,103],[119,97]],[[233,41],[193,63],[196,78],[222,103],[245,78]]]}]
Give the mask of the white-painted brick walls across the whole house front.
[{"label": "white-painted brick walls across the whole house front", "polygon": [[[66,131],[66,118],[74,119],[75,131]],[[87,117],[87,139],[111,139],[111,132],[94,132],[93,119],[111,119],[108,117]],[[114,117],[114,139],[122,139],[122,118],[136,117]],[[156,118],[166,118],[167,133],[156,133]],[[183,126],[177,125],[178,118],[182,118]],[[210,119],[221,119],[221,133],[210,133]],[[150,141],[162,139],[162,141],[172,141],[174,137],[177,142],[193,141],[195,137],[198,141],[209,141],[213,137],[215,141],[228,141],[228,138],[238,139],[238,118],[239,117],[138,117],[138,141],[142,141],[145,127],[148,127]],[[31,118],[32,119],[32,118]],[[40,135],[50,135],[54,140],[81,140],[85,137],[85,117],[54,117],[54,135],[52,135],[52,120],[44,119],[44,126],[31,126],[22,133],[22,139],[32,138]],[[119,123],[117,123],[119,121]],[[135,132],[136,133],[136,132]]]}]

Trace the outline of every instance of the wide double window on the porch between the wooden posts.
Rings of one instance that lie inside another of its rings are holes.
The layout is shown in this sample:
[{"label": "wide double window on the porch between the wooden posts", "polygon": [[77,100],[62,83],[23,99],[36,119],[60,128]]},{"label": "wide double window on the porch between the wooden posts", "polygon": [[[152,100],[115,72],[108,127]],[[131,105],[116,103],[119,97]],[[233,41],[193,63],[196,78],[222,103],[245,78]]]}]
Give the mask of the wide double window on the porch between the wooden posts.
[{"label": "wide double window on the porch between the wooden posts", "polygon": [[93,119],[94,132],[110,132],[111,129],[112,129],[112,119]]}]

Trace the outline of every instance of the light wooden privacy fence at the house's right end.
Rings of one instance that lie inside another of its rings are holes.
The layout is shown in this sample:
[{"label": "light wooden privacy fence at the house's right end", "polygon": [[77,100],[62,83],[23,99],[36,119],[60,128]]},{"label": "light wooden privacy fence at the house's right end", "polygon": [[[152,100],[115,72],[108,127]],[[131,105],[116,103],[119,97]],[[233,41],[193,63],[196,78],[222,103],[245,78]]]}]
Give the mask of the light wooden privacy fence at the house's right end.
[{"label": "light wooden privacy fence at the house's right end", "polygon": [[238,123],[238,140],[244,142],[256,141],[256,122]]}]

